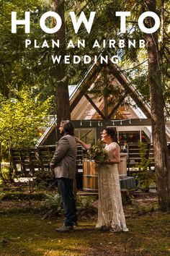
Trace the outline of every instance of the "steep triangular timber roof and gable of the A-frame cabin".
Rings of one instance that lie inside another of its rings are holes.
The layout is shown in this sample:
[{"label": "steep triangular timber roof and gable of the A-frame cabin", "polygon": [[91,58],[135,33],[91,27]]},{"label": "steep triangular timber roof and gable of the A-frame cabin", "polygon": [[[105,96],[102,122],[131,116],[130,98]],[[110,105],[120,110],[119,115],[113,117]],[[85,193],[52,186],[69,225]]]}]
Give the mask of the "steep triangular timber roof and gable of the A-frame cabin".
[{"label": "steep triangular timber roof and gable of the A-frame cabin", "polygon": [[[100,64],[98,61],[96,64],[91,65],[78,85],[69,86],[71,119],[115,119],[115,111],[117,111],[117,108],[121,108],[121,100],[115,103],[115,106],[109,107],[106,117],[104,116],[104,98],[102,98],[102,100],[101,98],[92,98],[92,95],[84,93],[85,91],[87,92],[91,85],[95,86],[95,82],[100,79],[102,70],[104,70],[106,65],[107,69],[109,69],[109,72],[114,77],[112,80],[113,83],[122,86],[127,96],[131,98],[131,106],[128,110],[122,109],[122,111],[120,111],[121,117],[117,119],[151,119],[150,105],[144,101],[143,96],[136,90],[135,85],[130,82],[125,72],[116,64],[113,64],[112,61],[109,61],[109,64]],[[138,108],[136,106],[138,106]],[[56,119],[54,119],[51,126],[45,130],[44,134],[37,142],[37,145],[43,144],[53,129],[55,129],[55,124]],[[166,132],[170,137],[169,132]]]}]

